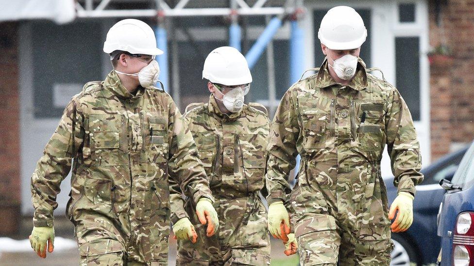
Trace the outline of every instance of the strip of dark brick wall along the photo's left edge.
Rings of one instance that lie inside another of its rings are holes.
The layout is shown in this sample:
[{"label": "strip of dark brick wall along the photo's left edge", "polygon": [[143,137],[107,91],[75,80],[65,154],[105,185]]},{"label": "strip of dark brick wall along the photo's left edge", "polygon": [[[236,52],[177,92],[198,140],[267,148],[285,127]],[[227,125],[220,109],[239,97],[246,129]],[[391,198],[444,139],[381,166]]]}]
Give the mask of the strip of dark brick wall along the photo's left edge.
[{"label": "strip of dark brick wall along the photo's left edge", "polygon": [[2,236],[17,232],[21,215],[21,184],[18,25],[0,23],[0,29],[0,236]]}]

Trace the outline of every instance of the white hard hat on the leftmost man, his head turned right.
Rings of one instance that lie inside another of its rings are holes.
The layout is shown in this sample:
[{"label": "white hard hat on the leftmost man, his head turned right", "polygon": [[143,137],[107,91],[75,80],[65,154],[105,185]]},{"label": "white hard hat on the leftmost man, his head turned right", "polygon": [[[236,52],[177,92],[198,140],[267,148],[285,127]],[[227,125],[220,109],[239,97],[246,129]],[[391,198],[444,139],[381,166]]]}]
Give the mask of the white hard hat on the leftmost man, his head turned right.
[{"label": "white hard hat on the leftmost man, his head turned right", "polygon": [[156,47],[152,28],[141,20],[131,18],[120,20],[107,32],[103,51],[110,54],[116,50],[131,54],[163,54]]}]

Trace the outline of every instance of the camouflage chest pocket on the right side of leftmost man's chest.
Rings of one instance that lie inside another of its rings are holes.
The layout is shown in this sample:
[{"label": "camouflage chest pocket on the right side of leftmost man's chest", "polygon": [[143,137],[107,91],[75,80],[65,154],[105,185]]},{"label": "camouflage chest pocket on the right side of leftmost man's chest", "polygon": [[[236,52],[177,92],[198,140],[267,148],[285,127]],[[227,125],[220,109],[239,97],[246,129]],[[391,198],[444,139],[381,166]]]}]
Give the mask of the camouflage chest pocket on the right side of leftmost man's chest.
[{"label": "camouflage chest pocket on the right side of leftmost man's chest", "polygon": [[148,161],[163,163],[168,161],[168,119],[162,113],[149,113]]}]

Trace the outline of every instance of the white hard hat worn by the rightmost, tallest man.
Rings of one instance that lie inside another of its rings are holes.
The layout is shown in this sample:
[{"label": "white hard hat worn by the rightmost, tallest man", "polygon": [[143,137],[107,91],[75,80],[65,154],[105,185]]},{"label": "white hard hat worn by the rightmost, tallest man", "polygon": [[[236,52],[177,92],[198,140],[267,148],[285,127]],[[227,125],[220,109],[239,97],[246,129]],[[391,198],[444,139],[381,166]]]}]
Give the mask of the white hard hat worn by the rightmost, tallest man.
[{"label": "white hard hat worn by the rightmost, tallest man", "polygon": [[329,49],[351,50],[362,46],[367,38],[367,29],[354,8],[337,6],[322,18],[318,38]]}]

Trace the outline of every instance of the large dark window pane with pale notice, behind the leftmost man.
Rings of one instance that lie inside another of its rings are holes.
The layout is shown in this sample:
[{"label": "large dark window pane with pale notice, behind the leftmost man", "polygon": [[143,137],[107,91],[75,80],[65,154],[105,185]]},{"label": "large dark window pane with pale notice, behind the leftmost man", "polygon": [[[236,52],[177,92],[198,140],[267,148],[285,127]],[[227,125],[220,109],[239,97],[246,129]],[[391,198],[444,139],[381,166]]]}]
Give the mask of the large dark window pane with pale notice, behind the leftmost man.
[{"label": "large dark window pane with pale notice, behind the leftmost man", "polygon": [[91,21],[67,25],[38,21],[31,32],[34,117],[57,118],[86,82],[105,78],[102,27]]}]

